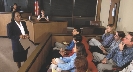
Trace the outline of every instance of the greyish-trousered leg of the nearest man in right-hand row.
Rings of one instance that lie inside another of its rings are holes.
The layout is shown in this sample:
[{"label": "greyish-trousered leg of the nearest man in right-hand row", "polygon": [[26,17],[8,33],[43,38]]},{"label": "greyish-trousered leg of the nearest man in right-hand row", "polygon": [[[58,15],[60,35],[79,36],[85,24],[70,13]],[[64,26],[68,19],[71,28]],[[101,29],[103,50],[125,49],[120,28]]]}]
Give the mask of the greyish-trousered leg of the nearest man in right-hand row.
[{"label": "greyish-trousered leg of the nearest man in right-hand row", "polygon": [[100,63],[97,65],[98,72],[104,72],[104,70],[112,70],[112,64],[103,64]]}]

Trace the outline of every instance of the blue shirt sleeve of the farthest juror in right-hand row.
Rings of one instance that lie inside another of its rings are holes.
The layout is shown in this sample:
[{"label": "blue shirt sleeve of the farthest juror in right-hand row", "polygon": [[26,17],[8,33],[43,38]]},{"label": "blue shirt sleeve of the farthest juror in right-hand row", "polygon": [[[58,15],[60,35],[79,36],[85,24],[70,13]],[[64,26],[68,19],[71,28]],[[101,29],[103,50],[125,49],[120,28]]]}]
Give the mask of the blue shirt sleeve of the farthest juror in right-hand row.
[{"label": "blue shirt sleeve of the farthest juror in right-hand row", "polygon": [[102,39],[103,39],[102,45],[107,46],[111,41],[113,41],[114,35],[110,34],[109,36],[106,36],[105,34],[103,34]]}]

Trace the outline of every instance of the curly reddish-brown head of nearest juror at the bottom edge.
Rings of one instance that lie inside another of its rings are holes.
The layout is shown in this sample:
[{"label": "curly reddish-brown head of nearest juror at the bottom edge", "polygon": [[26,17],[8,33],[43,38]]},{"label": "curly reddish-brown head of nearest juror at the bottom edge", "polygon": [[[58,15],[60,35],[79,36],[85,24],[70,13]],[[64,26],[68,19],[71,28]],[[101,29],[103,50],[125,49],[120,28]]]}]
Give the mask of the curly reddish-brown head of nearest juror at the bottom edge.
[{"label": "curly reddish-brown head of nearest juror at the bottom edge", "polygon": [[86,57],[77,56],[74,64],[75,64],[76,72],[89,72],[88,62],[87,62]]}]

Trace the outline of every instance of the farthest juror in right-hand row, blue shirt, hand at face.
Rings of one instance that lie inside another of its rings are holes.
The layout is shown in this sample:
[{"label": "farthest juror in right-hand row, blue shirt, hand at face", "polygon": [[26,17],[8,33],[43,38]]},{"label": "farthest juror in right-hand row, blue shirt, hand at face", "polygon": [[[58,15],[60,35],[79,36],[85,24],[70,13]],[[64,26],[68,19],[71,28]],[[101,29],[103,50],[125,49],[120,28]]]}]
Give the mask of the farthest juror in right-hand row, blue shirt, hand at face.
[{"label": "farthest juror in right-hand row, blue shirt, hand at face", "polygon": [[96,39],[91,39],[89,41],[89,45],[92,46],[90,48],[91,52],[99,52],[102,53],[102,51],[99,51],[100,46],[103,46],[104,48],[108,48],[110,47],[110,45],[112,44],[113,40],[114,40],[114,28],[113,28],[113,24],[109,24],[107,25],[107,28],[105,30],[105,33],[102,35],[102,43],[100,43],[98,40]]}]

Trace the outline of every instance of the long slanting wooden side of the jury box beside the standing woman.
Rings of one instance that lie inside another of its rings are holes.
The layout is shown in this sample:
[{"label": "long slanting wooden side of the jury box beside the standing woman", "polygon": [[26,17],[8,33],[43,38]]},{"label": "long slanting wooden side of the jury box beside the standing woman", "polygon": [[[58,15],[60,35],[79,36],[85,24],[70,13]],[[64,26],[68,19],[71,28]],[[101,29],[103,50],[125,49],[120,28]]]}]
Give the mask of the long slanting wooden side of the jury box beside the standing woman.
[{"label": "long slanting wooden side of the jury box beside the standing woman", "polygon": [[43,36],[43,42],[37,46],[18,72],[39,72],[41,66],[46,63],[46,57],[52,48],[52,34],[48,33]]}]

